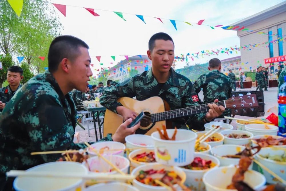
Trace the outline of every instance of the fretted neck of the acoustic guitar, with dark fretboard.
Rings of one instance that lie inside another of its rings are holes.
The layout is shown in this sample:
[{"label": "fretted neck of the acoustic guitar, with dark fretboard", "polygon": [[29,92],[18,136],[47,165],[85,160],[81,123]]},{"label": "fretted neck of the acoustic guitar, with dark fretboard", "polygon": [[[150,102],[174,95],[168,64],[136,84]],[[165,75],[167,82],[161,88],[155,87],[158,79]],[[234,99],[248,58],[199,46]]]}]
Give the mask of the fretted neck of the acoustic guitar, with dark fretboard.
[{"label": "fretted neck of the acoustic guitar, with dark fretboard", "polygon": [[[225,101],[219,101],[217,103],[218,106],[222,105],[225,106]],[[178,117],[185,117],[189,115],[194,115],[197,113],[203,113],[207,112],[209,110],[208,104],[203,104],[203,105],[197,105],[197,106],[192,106],[192,107],[185,107],[182,109],[174,109],[170,111],[165,111],[161,113],[154,113],[151,114],[151,122],[156,122],[156,121],[163,121],[167,119],[174,119]]]}]

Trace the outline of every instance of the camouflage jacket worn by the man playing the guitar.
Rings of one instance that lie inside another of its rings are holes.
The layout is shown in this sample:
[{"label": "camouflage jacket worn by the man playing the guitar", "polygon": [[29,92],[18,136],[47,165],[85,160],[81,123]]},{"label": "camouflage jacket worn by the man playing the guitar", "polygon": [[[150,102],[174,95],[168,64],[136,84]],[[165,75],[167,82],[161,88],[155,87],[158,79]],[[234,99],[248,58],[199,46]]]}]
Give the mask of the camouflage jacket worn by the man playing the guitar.
[{"label": "camouflage jacket worn by the man playing the guitar", "polygon": [[[198,96],[190,80],[176,73],[172,68],[170,71],[171,75],[161,89],[158,89],[159,84],[151,68],[149,71],[137,74],[116,86],[106,88],[100,97],[100,104],[115,113],[116,107],[122,106],[121,103],[117,102],[120,97],[136,97],[137,100],[142,101],[153,96],[159,96],[168,102],[172,110],[199,105]],[[173,119],[172,125],[186,129],[187,124],[192,129],[202,130],[205,115],[206,113],[199,113],[176,118]]]}]

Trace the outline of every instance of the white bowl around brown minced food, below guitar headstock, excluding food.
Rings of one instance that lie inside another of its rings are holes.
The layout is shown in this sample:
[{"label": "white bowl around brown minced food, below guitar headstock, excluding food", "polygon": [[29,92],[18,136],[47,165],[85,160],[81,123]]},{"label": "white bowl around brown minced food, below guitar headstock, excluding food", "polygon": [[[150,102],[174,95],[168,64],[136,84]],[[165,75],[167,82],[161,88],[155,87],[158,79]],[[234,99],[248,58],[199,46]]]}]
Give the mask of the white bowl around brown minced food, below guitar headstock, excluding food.
[{"label": "white bowl around brown minced food, below guitar headstock, excluding food", "polygon": [[[241,139],[235,139],[235,138],[227,137],[231,133],[246,134],[249,137],[248,138],[241,138]],[[242,145],[242,146],[246,146],[246,147],[249,147],[251,145],[251,139],[253,137],[252,133],[247,132],[247,131],[240,131],[240,130],[225,130],[225,131],[222,131],[221,134],[223,134],[225,137],[223,144],[225,144],[225,145]]]}]

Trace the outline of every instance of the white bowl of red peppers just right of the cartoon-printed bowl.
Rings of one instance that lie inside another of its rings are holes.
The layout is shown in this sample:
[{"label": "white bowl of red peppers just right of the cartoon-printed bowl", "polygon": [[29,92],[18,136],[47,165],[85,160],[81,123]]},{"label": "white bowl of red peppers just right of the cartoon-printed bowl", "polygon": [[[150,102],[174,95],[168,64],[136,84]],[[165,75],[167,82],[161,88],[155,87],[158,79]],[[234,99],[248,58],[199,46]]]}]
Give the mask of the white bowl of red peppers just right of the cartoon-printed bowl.
[{"label": "white bowl of red peppers just right of the cartoon-printed bowl", "polygon": [[204,173],[212,168],[219,167],[219,160],[208,154],[195,153],[194,161],[186,166],[182,166],[182,170],[186,173],[185,185],[191,190],[205,190],[202,177]]}]

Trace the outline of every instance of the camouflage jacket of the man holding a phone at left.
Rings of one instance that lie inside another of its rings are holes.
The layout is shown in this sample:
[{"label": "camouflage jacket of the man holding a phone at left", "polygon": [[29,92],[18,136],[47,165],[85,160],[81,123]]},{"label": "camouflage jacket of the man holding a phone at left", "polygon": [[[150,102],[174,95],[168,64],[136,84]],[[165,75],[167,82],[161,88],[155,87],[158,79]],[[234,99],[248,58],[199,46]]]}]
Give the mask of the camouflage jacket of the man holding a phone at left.
[{"label": "camouflage jacket of the man holding a phone at left", "polygon": [[[46,70],[16,92],[0,117],[0,175],[53,162],[61,154],[31,155],[35,151],[85,148],[74,143],[76,110],[69,94],[63,95]],[[111,136],[101,141],[112,140]]]}]

